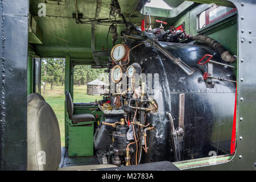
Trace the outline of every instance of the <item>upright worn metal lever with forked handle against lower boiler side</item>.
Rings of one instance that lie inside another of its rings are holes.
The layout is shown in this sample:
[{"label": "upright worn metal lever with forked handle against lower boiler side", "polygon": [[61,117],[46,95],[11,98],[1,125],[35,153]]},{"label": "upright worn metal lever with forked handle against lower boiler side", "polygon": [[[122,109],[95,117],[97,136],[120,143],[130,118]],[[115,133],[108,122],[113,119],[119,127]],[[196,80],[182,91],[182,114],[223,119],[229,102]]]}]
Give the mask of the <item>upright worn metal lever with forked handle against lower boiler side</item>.
[{"label": "upright worn metal lever with forked handle against lower boiler side", "polygon": [[185,94],[179,95],[179,126],[174,129],[174,120],[171,113],[167,113],[171,122],[172,146],[174,148],[174,157],[176,161],[181,160],[182,151],[184,151],[184,110],[185,110]]}]

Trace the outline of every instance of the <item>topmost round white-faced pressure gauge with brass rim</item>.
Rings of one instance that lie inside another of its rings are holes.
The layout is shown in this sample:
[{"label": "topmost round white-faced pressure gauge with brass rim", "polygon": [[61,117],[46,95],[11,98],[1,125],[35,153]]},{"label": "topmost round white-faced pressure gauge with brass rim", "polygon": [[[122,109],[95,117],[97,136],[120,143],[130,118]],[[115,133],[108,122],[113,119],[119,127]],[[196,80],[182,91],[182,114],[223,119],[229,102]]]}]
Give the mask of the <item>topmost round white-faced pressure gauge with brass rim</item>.
[{"label": "topmost round white-faced pressure gauge with brass rim", "polygon": [[125,44],[117,44],[111,51],[111,57],[114,61],[127,61],[129,47]]}]

